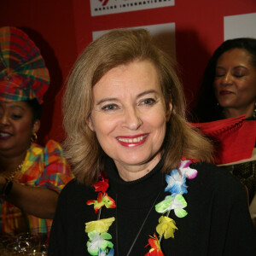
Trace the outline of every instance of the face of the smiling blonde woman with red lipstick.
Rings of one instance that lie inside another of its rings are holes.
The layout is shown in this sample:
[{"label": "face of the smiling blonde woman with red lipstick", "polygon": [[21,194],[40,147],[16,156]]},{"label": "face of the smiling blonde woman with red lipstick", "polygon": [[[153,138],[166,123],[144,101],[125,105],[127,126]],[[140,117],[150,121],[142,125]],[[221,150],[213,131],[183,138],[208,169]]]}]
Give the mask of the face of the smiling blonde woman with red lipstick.
[{"label": "face of the smiling blonde woman with red lipstick", "polygon": [[88,125],[125,180],[143,177],[160,160],[166,110],[156,68],[150,61],[114,67],[93,88]]}]

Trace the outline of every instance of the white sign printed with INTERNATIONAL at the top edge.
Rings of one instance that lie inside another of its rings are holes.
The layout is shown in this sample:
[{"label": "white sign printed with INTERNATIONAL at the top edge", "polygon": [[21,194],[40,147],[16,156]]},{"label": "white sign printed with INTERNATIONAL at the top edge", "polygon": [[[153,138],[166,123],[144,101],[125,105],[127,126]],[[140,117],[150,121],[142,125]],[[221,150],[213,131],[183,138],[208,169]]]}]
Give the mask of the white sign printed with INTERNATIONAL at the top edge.
[{"label": "white sign printed with INTERNATIONAL at the top edge", "polygon": [[111,15],[174,4],[174,0],[90,0],[90,14],[91,16]]}]

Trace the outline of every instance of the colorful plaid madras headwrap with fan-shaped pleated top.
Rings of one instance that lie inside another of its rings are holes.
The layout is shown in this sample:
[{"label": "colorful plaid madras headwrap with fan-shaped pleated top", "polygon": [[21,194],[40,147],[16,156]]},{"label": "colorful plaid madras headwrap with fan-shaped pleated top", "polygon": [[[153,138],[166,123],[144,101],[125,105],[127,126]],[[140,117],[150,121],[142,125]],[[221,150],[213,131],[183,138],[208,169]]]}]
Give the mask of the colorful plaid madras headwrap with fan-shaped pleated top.
[{"label": "colorful plaid madras headwrap with fan-shaped pleated top", "polygon": [[43,103],[49,72],[38,47],[20,29],[0,28],[0,102]]}]

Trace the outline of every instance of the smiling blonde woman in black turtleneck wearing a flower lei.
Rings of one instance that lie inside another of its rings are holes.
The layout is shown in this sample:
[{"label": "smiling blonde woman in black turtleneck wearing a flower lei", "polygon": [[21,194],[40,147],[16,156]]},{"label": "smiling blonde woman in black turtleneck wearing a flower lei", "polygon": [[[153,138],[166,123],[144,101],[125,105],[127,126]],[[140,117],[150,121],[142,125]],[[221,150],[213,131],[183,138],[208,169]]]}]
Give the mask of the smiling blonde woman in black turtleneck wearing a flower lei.
[{"label": "smiling blonde woman in black turtleneck wearing a flower lei", "polygon": [[92,42],[63,102],[76,179],[61,191],[50,256],[255,253],[245,191],[209,164],[212,145],[187,124],[172,61],[147,31]]}]

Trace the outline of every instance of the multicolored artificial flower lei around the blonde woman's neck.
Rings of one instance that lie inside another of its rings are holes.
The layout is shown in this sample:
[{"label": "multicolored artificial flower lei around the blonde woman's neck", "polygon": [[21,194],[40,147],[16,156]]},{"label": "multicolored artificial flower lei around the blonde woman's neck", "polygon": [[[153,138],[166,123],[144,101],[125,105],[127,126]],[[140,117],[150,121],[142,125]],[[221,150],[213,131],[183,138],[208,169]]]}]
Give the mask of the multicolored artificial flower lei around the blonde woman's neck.
[{"label": "multicolored artificial flower lei around the blonde woman's neck", "polygon": [[[183,198],[183,194],[188,193],[188,186],[186,179],[195,178],[197,171],[189,167],[191,160],[181,160],[178,169],[172,170],[171,174],[166,174],[166,192],[171,195],[166,195],[163,201],[155,205],[155,211],[161,213],[159,224],[156,226],[156,232],[159,237],[155,235],[149,236],[148,244],[150,245],[149,252],[145,256],[164,256],[160,248],[160,241],[162,237],[168,239],[174,238],[174,232],[177,230],[175,221],[169,218],[170,212],[173,210],[178,218],[185,217],[188,212],[183,208],[187,207],[187,202]],[[109,240],[112,236],[108,234],[109,227],[113,224],[114,218],[100,219],[102,207],[115,208],[115,202],[106,192],[108,189],[108,177],[105,172],[102,172],[99,181],[94,185],[95,191],[99,192],[97,200],[89,200],[87,205],[94,205],[94,210],[98,214],[96,221],[85,223],[85,232],[88,233],[89,241],[87,241],[87,250],[90,255],[98,256],[113,256],[113,243]]]}]

